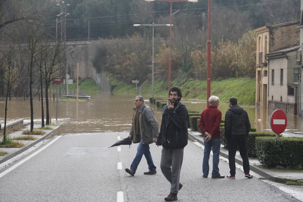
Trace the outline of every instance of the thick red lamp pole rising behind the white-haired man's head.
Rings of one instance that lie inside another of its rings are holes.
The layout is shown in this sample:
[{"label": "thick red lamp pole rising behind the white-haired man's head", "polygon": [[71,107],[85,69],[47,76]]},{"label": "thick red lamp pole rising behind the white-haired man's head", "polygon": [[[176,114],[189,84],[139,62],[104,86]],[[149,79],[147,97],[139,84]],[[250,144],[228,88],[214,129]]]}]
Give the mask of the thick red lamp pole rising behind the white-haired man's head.
[{"label": "thick red lamp pole rising behind the white-haired man's head", "polygon": [[207,20],[207,106],[209,106],[208,99],[210,97],[210,78],[211,78],[211,40],[210,40],[210,12],[211,12],[211,6],[210,2],[211,0],[208,0],[208,20]]}]

